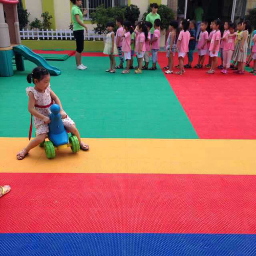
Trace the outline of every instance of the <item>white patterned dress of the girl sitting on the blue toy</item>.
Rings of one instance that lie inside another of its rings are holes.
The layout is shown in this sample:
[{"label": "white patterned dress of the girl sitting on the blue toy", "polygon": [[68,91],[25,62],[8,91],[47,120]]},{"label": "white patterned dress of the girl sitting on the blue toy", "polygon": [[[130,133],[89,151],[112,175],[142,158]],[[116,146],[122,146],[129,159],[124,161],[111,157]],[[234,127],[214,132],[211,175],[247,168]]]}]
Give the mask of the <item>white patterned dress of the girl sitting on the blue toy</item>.
[{"label": "white patterned dress of the girl sitting on the blue toy", "polygon": [[[46,106],[51,104],[52,98],[50,95],[50,91],[51,91],[50,86],[47,87],[44,93],[39,93],[34,89],[34,87],[26,88],[27,95],[29,92],[32,92],[35,98],[35,105],[39,105],[39,106]],[[49,117],[49,115],[52,113],[51,108],[41,109],[41,108],[35,107],[35,110],[47,117]],[[67,128],[75,124],[74,121],[69,116],[65,119],[62,119],[62,121],[64,126]],[[34,125],[36,128],[36,135],[49,133],[49,125],[46,124],[44,120],[34,116]]]}]

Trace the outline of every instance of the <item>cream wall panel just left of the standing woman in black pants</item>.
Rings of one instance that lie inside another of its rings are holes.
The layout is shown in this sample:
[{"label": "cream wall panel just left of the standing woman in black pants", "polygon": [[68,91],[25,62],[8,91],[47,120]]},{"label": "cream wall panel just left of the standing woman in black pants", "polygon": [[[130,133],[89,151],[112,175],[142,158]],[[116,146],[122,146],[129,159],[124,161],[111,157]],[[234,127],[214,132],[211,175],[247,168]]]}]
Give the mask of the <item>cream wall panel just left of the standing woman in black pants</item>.
[{"label": "cream wall panel just left of the standing woman in black pants", "polygon": [[56,29],[69,29],[71,23],[70,0],[54,0]]}]

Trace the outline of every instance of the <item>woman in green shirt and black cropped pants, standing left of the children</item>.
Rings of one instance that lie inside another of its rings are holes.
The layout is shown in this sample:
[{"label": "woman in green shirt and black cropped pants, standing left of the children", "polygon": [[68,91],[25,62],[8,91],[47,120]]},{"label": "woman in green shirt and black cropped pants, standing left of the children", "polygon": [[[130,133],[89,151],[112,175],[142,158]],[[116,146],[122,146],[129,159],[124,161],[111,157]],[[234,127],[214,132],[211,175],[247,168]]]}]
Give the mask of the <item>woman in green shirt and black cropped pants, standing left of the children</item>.
[{"label": "woman in green shirt and black cropped pants, standing left of the children", "polygon": [[73,4],[71,9],[71,16],[74,24],[74,37],[76,40],[76,69],[77,70],[86,70],[87,67],[82,64],[82,51],[83,51],[83,42],[84,42],[84,29],[88,32],[88,28],[83,24],[83,15],[86,15],[87,10],[83,13],[81,12],[80,7],[82,6],[81,0],[70,0]]}]

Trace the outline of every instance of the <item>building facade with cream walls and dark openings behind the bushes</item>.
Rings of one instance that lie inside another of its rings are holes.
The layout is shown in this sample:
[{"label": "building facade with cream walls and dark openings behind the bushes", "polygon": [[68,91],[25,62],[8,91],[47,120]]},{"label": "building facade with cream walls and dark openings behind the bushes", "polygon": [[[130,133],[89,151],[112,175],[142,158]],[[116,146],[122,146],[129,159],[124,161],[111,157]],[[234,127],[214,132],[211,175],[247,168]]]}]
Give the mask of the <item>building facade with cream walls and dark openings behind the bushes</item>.
[{"label": "building facade with cream walls and dark openings behind the bushes", "polygon": [[[48,11],[53,16],[53,29],[68,29],[71,24],[70,0],[22,0],[24,8],[28,9],[32,22],[39,18],[42,12]],[[234,20],[243,18],[247,11],[256,8],[256,0],[208,0],[201,1],[204,9],[204,18],[212,20],[216,17],[225,20],[231,19],[232,13]],[[234,5],[234,2],[236,5]],[[163,4],[172,8],[177,18],[194,18],[194,11],[198,5],[198,0],[83,0],[83,8],[89,10],[88,15],[84,18],[89,29],[93,29],[90,22],[90,13],[104,4],[106,7],[121,5],[137,5],[140,8],[141,15],[146,12],[148,5],[151,3]]]}]

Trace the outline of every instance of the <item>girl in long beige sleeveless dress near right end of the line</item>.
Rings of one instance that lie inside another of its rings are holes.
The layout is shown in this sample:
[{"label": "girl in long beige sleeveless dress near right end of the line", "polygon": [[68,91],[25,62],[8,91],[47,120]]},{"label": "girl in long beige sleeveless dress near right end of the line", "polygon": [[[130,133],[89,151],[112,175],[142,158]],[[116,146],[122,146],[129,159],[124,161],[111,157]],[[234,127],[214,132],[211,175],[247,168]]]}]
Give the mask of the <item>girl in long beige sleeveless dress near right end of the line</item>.
[{"label": "girl in long beige sleeveless dress near right end of the line", "polygon": [[234,72],[239,75],[244,75],[245,73],[244,68],[245,68],[245,62],[247,58],[247,49],[248,49],[247,38],[251,32],[250,23],[248,22],[248,20],[243,22],[242,27],[243,27],[243,33],[241,33],[240,35],[241,40],[238,41],[238,44],[233,54],[233,61],[238,62],[238,70]]}]

